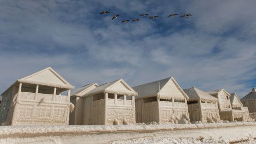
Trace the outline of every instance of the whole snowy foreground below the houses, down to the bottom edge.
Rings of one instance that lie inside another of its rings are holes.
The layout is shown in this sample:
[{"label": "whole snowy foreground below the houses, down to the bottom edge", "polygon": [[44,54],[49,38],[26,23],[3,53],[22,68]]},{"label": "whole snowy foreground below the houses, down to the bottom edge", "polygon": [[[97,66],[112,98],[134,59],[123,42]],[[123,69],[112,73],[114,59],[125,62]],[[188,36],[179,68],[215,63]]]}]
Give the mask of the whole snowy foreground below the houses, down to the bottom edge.
[{"label": "whole snowy foreground below the houses, down to the bottom edge", "polygon": [[255,122],[0,126],[0,143],[256,143]]}]

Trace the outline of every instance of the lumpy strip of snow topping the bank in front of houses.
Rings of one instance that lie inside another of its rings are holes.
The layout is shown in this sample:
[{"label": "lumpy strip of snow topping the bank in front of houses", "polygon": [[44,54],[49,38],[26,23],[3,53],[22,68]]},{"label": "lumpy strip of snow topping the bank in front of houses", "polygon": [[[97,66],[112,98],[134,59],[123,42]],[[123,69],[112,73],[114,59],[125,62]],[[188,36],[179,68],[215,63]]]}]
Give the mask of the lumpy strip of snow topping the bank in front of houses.
[{"label": "lumpy strip of snow topping the bank in front of houses", "polygon": [[114,131],[145,131],[145,130],[177,130],[177,129],[203,129],[214,127],[232,127],[256,125],[255,122],[231,122],[231,123],[202,123],[202,124],[151,124],[151,125],[21,125],[0,126],[1,135],[8,134],[42,134],[55,132],[114,132]]}]

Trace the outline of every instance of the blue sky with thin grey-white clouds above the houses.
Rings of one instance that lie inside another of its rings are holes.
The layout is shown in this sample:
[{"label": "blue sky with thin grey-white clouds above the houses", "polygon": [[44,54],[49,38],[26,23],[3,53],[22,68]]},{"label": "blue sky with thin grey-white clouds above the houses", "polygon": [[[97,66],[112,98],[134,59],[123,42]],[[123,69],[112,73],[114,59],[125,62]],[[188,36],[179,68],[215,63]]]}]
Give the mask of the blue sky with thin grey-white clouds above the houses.
[{"label": "blue sky with thin grey-white clouds above the houses", "polygon": [[[256,86],[255,5],[0,0],[0,91],[50,66],[76,88],[119,78],[136,86],[174,77],[183,89],[223,88],[242,98]],[[170,13],[179,15],[167,18]],[[183,13],[192,16],[179,18]],[[111,20],[114,14],[120,16]],[[133,18],[141,21],[121,23]]]}]

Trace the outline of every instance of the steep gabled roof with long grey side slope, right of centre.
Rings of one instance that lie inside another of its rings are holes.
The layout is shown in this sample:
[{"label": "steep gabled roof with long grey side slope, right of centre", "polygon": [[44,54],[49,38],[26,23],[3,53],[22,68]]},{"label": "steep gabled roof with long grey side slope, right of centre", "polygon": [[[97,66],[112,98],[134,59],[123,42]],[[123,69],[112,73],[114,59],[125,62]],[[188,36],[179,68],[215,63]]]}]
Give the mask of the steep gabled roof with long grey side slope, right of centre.
[{"label": "steep gabled roof with long grey side slope, right of centre", "polygon": [[[173,86],[167,86],[168,83],[173,83]],[[138,92],[138,98],[160,97],[163,99],[189,99],[188,95],[181,89],[179,84],[173,77],[161,79],[155,82],[150,82],[132,87]],[[163,92],[164,89],[172,89],[171,92]]]}]

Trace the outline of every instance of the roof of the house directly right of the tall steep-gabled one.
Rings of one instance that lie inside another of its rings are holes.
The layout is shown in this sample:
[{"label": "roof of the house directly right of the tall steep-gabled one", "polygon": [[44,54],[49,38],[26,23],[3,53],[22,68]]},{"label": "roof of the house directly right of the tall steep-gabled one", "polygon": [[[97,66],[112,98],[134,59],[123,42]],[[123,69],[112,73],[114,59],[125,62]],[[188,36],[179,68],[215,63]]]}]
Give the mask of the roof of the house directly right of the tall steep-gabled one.
[{"label": "roof of the house directly right of the tall steep-gabled one", "polygon": [[217,102],[218,99],[214,98],[212,95],[197,89],[197,87],[190,87],[188,89],[183,89],[189,97],[189,101],[204,101],[204,102]]}]

